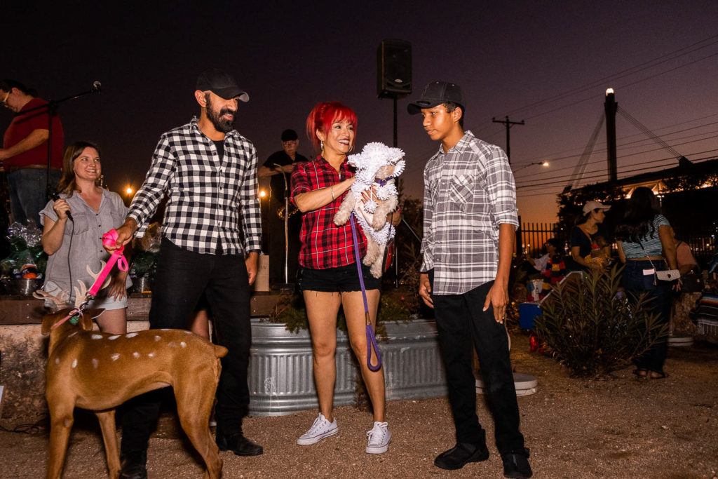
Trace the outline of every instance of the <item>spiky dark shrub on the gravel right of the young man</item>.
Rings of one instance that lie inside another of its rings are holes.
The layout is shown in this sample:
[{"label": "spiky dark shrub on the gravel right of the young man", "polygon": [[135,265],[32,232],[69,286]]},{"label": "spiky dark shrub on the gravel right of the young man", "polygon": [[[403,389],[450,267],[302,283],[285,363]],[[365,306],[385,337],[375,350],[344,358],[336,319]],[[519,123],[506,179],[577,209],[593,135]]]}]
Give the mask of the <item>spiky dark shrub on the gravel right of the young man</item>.
[{"label": "spiky dark shrub on the gravel right of the young man", "polygon": [[572,376],[598,376],[624,368],[667,334],[648,294],[625,297],[620,268],[572,275],[541,304],[534,329]]}]

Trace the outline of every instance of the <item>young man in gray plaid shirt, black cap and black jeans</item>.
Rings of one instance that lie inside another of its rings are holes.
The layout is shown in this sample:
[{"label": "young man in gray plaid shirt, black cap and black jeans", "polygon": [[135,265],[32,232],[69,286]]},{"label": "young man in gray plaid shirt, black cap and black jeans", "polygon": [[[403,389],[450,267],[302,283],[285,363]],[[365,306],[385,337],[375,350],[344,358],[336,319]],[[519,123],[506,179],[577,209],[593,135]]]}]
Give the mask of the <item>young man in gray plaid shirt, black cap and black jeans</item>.
[{"label": "young man in gray plaid shirt, black cap and black jeans", "polygon": [[476,414],[473,346],[490,394],[503,474],[529,478],[503,325],[518,228],[516,187],[504,152],[464,131],[464,105],[458,85],[435,81],[408,107],[410,114],[421,113],[429,137],[441,141],[424,168],[419,295],[434,308],[457,444],[434,464],[460,469],[489,457]]}]

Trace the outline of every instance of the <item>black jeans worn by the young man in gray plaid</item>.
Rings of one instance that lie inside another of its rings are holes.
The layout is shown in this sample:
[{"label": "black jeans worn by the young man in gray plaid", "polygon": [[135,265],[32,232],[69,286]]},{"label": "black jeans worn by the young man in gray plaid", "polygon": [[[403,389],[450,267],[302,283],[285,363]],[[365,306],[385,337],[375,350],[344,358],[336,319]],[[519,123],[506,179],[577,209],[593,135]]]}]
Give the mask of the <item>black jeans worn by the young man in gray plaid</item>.
[{"label": "black jeans worn by the young man in gray plaid", "polygon": [[[429,276],[433,279],[433,274]],[[506,329],[494,319],[493,307],[482,311],[492,285],[493,282],[488,282],[464,294],[432,294],[432,300],[439,348],[446,366],[456,440],[481,444],[485,437],[476,415],[472,353],[472,348],[476,348],[493,411],[496,447],[504,454],[523,450],[523,435],[518,430],[518,402]]]}]

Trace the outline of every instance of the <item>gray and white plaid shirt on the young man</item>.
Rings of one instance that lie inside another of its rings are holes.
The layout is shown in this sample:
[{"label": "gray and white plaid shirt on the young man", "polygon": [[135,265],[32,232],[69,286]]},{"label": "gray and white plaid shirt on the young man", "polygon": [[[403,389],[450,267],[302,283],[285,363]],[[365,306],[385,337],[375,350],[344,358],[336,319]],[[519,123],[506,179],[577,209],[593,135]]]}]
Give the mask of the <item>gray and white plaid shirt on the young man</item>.
[{"label": "gray and white plaid shirt on the young man", "polygon": [[502,149],[466,131],[424,167],[421,271],[434,269],[432,294],[463,294],[493,281],[498,229],[518,228],[516,185]]}]

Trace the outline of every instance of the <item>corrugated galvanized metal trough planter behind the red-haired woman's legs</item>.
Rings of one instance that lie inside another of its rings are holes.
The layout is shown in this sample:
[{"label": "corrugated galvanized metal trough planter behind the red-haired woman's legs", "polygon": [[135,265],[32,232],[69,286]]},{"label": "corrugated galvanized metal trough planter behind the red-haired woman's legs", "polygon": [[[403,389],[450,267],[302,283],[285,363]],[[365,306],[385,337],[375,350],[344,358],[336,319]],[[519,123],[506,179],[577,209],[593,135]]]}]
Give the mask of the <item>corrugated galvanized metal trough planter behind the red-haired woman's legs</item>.
[{"label": "corrugated galvanized metal trough planter behind the red-haired woman's legs", "polygon": [[[379,340],[386,399],[445,396],[446,376],[434,320],[388,323]],[[353,404],[358,366],[347,336],[337,331],[335,406]],[[307,330],[289,332],[282,323],[252,320],[249,412],[281,416],[318,407],[312,376],[312,342]]]}]

